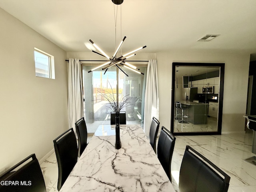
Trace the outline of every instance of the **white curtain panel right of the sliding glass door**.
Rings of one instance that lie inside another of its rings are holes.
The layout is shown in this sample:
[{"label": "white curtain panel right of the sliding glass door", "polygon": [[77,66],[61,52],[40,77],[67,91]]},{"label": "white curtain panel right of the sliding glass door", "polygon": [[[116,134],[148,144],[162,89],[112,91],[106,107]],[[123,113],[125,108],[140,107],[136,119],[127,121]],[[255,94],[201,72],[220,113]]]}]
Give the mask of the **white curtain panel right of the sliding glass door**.
[{"label": "white curtain panel right of the sliding glass door", "polygon": [[145,102],[144,102],[144,132],[149,136],[150,124],[152,118],[158,119],[159,116],[159,97],[158,97],[158,78],[157,78],[157,64],[156,60],[149,60]]}]

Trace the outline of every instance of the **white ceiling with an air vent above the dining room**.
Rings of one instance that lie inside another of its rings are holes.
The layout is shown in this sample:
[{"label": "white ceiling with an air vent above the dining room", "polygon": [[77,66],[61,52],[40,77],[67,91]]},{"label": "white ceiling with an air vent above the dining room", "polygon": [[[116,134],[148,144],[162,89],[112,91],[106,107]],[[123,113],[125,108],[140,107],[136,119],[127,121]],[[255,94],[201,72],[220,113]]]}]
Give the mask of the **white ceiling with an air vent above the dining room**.
[{"label": "white ceiling with an air vent above the dining room", "polygon": [[[89,52],[89,39],[114,52],[127,36],[122,52],[146,45],[140,52],[256,53],[256,0],[124,0],[116,43],[111,0],[0,0],[0,7],[68,52]],[[220,36],[198,42],[205,34]]]}]

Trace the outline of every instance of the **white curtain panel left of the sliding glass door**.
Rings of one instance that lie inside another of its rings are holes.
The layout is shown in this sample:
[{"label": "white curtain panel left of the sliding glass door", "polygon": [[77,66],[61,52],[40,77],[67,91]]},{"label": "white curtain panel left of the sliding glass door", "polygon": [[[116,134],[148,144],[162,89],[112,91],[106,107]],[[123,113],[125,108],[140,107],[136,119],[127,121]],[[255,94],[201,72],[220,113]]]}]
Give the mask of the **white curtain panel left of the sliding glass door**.
[{"label": "white curtain panel left of the sliding glass door", "polygon": [[75,128],[75,122],[84,116],[82,72],[79,59],[68,61],[68,125]]}]

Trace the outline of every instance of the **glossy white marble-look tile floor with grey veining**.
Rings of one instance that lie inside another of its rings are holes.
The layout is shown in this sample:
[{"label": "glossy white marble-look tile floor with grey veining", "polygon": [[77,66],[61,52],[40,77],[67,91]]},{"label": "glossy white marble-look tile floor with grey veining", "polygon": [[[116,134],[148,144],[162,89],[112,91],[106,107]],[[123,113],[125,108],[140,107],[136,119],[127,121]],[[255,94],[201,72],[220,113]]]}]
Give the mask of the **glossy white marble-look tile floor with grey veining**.
[{"label": "glossy white marble-look tile floor with grey veining", "polygon": [[[256,156],[251,152],[252,134],[176,136],[172,157],[172,184],[177,192],[180,164],[186,145],[192,146],[231,177],[228,192],[256,191],[256,166],[244,161]],[[47,192],[57,192],[58,165],[55,153],[40,166]]]}]

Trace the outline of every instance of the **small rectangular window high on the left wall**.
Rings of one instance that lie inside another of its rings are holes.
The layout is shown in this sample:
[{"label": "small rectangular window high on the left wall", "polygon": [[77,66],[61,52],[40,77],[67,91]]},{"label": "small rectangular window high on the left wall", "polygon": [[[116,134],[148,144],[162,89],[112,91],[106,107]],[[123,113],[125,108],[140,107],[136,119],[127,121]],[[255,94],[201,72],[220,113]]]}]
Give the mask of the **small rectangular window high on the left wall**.
[{"label": "small rectangular window high on the left wall", "polygon": [[54,78],[54,57],[37,48],[34,50],[36,77]]}]

